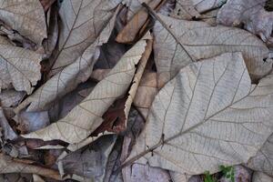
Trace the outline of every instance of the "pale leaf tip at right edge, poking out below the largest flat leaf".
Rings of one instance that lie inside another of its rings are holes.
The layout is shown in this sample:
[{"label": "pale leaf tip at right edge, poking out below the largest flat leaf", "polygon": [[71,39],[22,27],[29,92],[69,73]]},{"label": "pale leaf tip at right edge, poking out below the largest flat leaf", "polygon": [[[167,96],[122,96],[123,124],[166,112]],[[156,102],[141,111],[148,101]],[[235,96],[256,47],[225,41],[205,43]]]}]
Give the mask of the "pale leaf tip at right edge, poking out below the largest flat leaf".
[{"label": "pale leaf tip at right edge, poking out below the largest flat leaf", "polygon": [[273,177],[273,134],[268,137],[256,156],[249,159],[248,167]]}]

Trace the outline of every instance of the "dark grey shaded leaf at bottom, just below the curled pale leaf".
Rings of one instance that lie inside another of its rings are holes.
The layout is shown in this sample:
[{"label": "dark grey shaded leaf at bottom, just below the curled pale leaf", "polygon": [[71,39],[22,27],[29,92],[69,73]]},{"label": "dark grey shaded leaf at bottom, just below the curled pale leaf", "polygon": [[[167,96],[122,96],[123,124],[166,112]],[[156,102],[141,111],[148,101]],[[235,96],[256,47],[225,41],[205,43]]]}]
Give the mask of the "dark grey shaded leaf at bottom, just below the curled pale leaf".
[{"label": "dark grey shaded leaf at bottom, just below the curled pale leaf", "polygon": [[115,141],[115,135],[101,136],[90,146],[69,154],[60,160],[65,172],[84,177],[86,181],[103,181],[108,156]]}]

